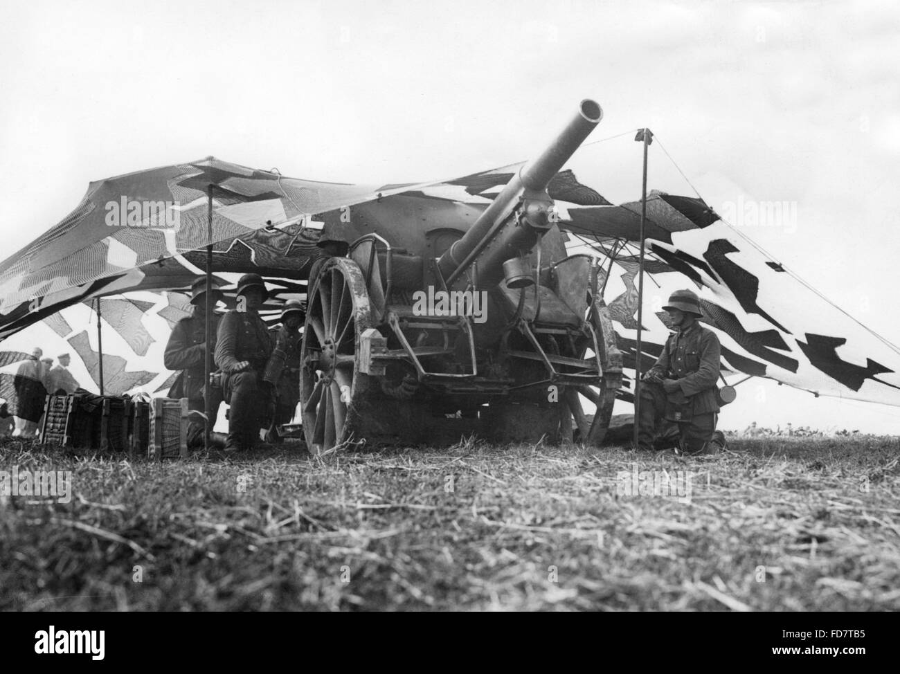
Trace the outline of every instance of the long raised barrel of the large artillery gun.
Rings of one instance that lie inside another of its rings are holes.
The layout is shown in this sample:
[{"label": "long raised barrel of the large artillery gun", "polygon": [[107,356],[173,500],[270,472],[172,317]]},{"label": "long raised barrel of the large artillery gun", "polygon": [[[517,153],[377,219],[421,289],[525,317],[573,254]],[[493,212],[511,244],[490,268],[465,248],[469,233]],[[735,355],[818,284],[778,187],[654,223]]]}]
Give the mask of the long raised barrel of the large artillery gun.
[{"label": "long raised barrel of the large artillery gun", "polygon": [[491,289],[503,278],[504,262],[530,252],[553,224],[547,185],[602,118],[599,103],[581,101],[554,142],[509,180],[472,228],[440,257],[437,264],[447,287],[464,288],[465,271],[477,264],[479,288]]}]

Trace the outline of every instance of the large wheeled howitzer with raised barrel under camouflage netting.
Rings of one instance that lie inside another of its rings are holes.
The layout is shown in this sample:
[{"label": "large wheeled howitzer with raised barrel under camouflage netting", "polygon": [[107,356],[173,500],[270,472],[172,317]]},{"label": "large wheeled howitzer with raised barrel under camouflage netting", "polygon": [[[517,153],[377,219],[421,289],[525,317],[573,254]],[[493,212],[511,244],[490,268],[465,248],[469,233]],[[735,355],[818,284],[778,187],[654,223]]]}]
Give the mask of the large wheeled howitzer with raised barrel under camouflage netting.
[{"label": "large wheeled howitzer with raised barrel under camouflage netting", "polygon": [[[486,207],[412,193],[323,216],[323,240],[347,252],[321,258],[309,282],[301,404],[313,453],[471,434],[599,444],[621,353],[599,259],[568,255],[548,185],[601,117],[582,101]],[[482,312],[440,310],[440,293]]]}]

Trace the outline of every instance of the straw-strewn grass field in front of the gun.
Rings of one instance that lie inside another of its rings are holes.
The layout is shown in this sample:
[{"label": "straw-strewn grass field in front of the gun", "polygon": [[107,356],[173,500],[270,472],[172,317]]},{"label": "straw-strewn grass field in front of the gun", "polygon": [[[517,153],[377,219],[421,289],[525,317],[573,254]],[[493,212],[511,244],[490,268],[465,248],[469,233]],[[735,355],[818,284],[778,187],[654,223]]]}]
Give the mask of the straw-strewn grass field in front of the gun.
[{"label": "straw-strewn grass field in front of the gun", "polygon": [[[898,610],[898,460],[872,436],[168,463],[5,439],[0,471],[73,493],[0,498],[0,609]],[[689,497],[619,493],[635,470],[692,472]]]}]

